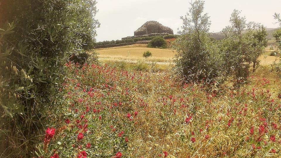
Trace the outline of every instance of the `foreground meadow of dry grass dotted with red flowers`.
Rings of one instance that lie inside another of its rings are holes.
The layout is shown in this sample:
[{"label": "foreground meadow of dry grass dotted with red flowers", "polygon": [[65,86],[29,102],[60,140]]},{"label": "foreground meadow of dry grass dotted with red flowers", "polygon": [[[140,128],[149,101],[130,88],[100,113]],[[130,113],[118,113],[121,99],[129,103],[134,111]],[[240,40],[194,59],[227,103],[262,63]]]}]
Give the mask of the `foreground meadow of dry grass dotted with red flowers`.
[{"label": "foreground meadow of dry grass dotted with red flowers", "polygon": [[229,81],[210,91],[168,71],[65,68],[63,104],[48,117],[54,135],[46,131],[38,157],[281,156],[281,84],[267,67],[239,90]]}]

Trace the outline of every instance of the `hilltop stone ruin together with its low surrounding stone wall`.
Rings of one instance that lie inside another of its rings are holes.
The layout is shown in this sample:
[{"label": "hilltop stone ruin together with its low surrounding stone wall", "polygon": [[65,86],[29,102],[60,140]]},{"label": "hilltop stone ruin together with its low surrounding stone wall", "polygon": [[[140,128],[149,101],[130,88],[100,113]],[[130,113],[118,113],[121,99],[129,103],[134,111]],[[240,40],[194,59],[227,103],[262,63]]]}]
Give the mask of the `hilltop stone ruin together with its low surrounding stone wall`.
[{"label": "hilltop stone ruin together with its low surrounding stone wall", "polygon": [[148,21],[134,32],[134,36],[124,37],[122,38],[122,40],[141,37],[165,36],[173,34],[174,31],[171,28],[163,26],[157,21]]}]

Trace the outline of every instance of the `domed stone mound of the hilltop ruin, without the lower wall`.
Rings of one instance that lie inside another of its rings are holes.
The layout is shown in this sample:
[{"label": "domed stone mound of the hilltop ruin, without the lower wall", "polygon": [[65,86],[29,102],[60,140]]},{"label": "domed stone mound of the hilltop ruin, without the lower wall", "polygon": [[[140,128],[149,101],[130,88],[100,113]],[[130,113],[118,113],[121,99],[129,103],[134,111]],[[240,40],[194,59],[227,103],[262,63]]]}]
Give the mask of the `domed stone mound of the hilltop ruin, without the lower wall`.
[{"label": "domed stone mound of the hilltop ruin, without the lower wall", "polygon": [[134,32],[134,35],[135,36],[150,35],[152,33],[169,33],[173,35],[174,31],[167,26],[163,26],[157,21],[148,21],[144,23],[143,26],[138,28],[138,30]]}]

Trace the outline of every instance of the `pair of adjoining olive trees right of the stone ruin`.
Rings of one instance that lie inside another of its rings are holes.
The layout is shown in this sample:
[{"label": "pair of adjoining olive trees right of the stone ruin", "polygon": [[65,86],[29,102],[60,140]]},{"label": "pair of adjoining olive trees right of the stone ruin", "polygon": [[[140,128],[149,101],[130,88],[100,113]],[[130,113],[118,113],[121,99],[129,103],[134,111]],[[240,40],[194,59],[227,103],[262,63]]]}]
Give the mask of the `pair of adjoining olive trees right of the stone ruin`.
[{"label": "pair of adjoining olive trees right of the stone ruin", "polygon": [[230,76],[236,81],[245,80],[250,65],[256,70],[258,57],[267,44],[265,28],[253,22],[246,24],[246,19],[234,10],[231,26],[222,30],[225,39],[212,41],[211,23],[203,9],[204,1],[197,0],[191,4],[189,13],[181,17],[184,25],[174,45],[178,52],[174,60],[176,70],[192,82],[221,83]]}]

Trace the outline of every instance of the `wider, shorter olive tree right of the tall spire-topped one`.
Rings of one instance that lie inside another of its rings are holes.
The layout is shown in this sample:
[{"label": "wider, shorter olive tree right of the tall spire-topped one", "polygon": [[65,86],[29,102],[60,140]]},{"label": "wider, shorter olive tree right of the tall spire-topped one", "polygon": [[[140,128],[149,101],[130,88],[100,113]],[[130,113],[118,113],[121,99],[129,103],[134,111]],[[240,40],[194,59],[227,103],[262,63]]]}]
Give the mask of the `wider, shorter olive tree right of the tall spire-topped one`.
[{"label": "wider, shorter olive tree right of the tall spire-topped one", "polygon": [[240,11],[234,10],[230,17],[231,26],[222,30],[225,39],[220,43],[227,72],[233,74],[237,80],[245,80],[249,75],[249,67],[253,64],[253,71],[259,63],[258,57],[266,46],[266,31],[263,26],[250,22],[241,17]]}]

